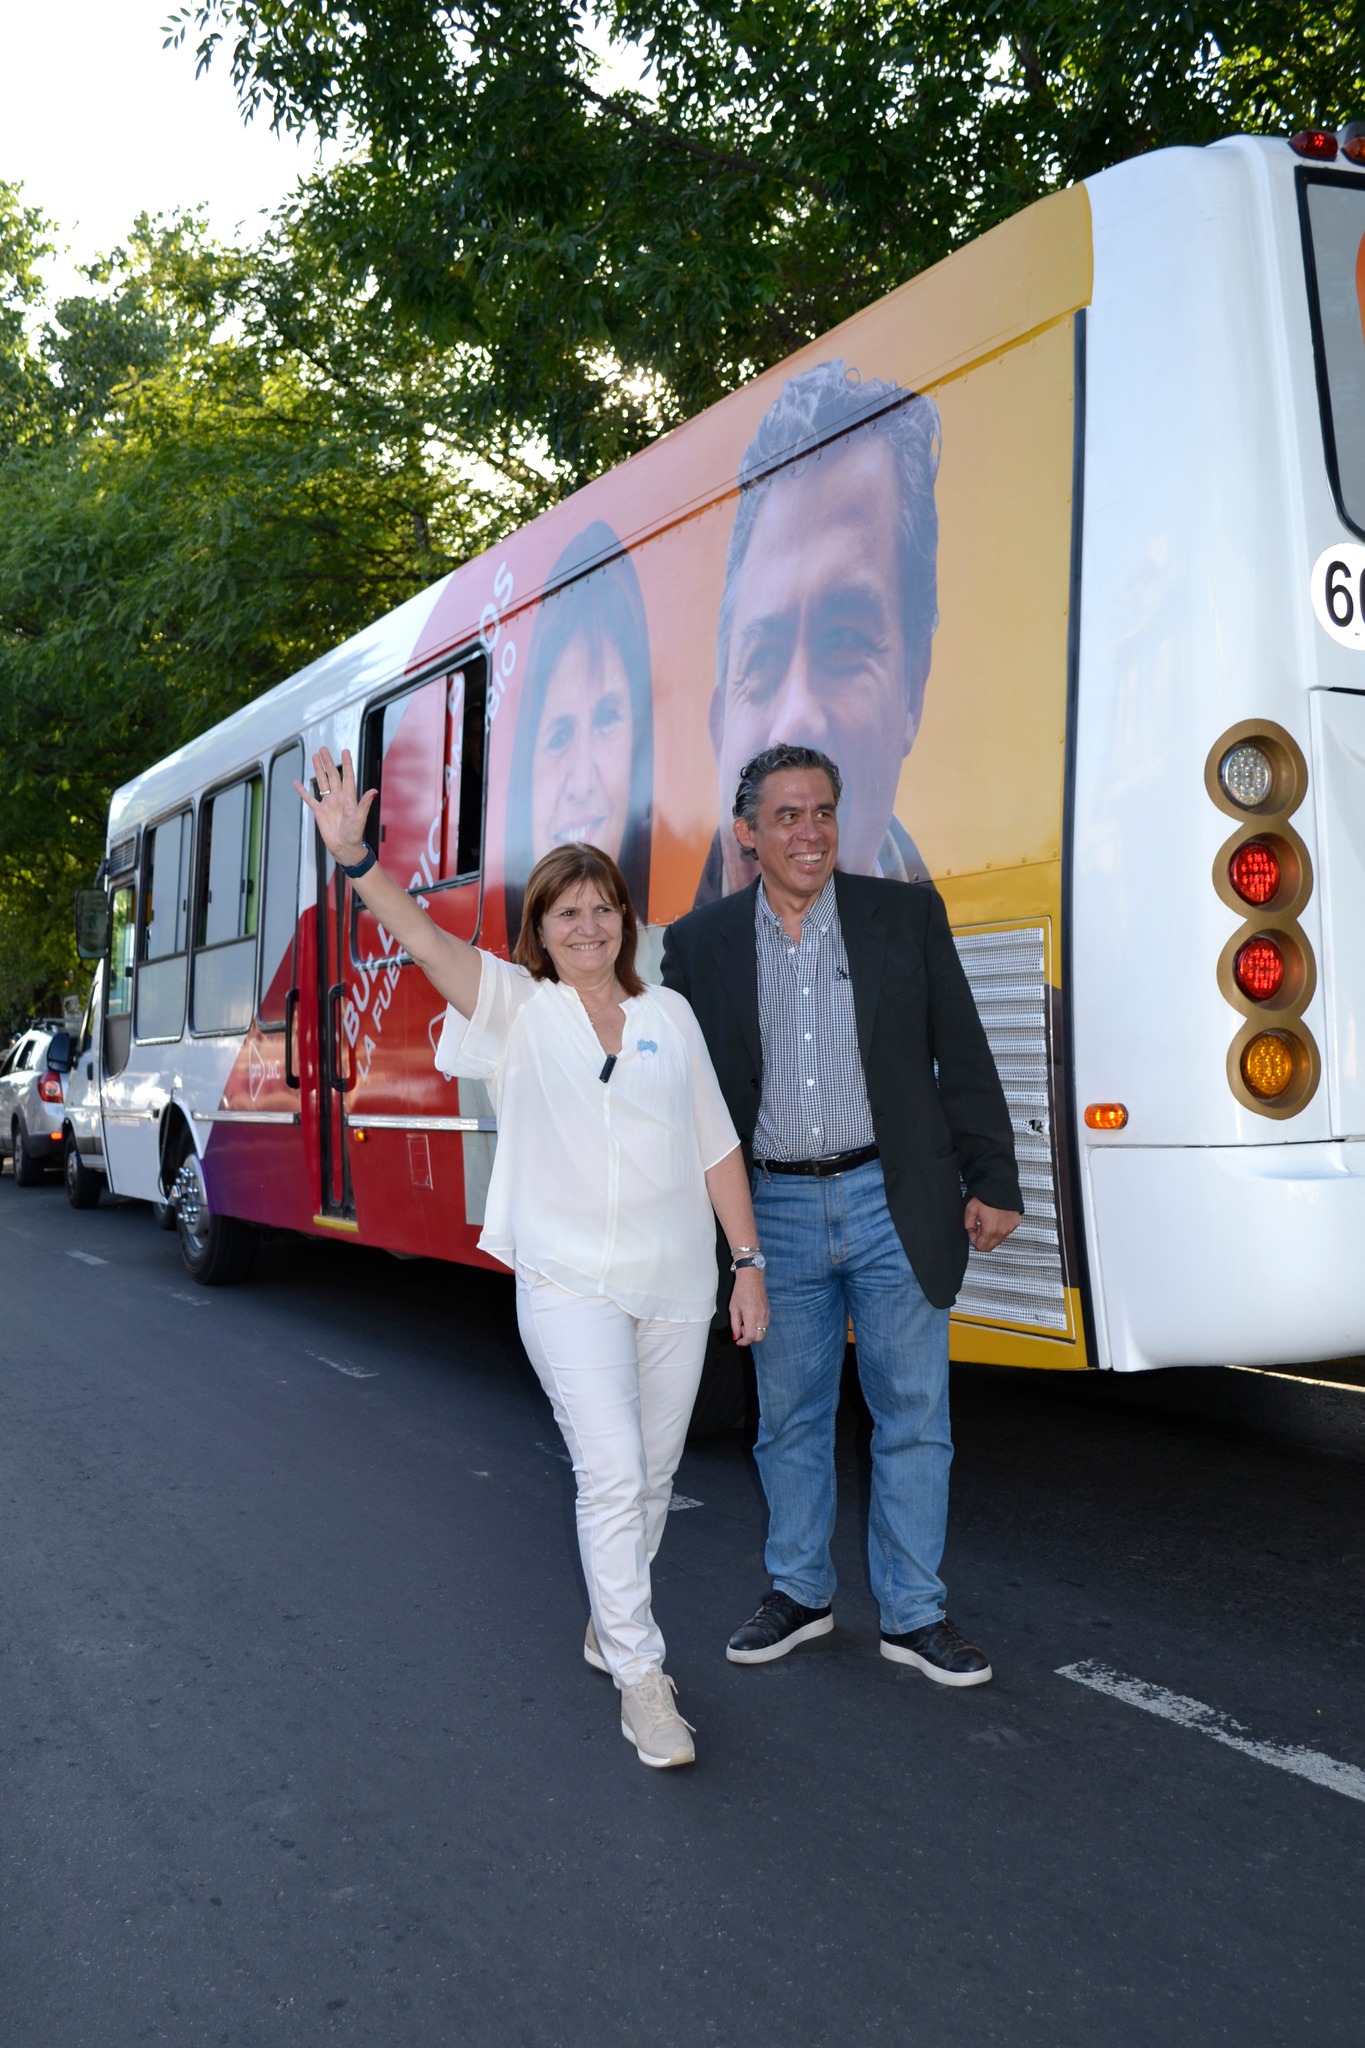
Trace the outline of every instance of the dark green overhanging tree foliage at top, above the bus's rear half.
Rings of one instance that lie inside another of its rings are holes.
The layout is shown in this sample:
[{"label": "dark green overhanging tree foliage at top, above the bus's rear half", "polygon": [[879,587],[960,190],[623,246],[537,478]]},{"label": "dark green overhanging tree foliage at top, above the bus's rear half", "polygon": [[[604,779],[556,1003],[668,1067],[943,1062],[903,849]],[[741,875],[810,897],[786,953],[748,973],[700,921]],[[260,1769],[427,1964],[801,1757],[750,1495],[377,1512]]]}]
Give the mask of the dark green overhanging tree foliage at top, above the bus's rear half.
[{"label": "dark green overhanging tree foliage at top, above the bus's rear half", "polygon": [[178,25],[246,111],[354,141],[319,240],[465,350],[471,430],[542,432],[567,481],[1060,184],[1365,111],[1365,8],[1330,0],[196,0]]}]

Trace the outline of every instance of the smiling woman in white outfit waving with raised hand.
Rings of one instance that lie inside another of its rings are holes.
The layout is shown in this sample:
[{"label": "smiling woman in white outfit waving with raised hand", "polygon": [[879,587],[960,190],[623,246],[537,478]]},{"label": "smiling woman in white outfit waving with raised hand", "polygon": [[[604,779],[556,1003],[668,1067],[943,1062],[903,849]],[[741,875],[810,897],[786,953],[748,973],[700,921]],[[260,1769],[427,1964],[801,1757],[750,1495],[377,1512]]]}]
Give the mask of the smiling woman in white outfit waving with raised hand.
[{"label": "smiling woman in white outfit waving with raised hand", "polygon": [[497,1153],[479,1247],[516,1272],[522,1341],[577,1479],[591,1618],[643,1763],[692,1763],[663,1671],[649,1567],[716,1305],[712,1210],[733,1249],[737,1343],[767,1329],[763,1255],[735,1126],[692,1010],[634,969],[636,918],[596,846],[536,862],[514,963],[442,932],[364,842],[375,791],[350,752],[295,784],[323,846],[446,997],[442,1073],[487,1081]]}]

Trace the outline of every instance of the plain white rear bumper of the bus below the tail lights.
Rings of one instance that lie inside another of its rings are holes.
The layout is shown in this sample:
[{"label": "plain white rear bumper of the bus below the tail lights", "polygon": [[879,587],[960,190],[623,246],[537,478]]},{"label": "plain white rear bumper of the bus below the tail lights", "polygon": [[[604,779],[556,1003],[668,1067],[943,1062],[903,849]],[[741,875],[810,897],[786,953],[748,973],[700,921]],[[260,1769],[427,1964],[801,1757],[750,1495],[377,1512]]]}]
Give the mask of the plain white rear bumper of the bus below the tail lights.
[{"label": "plain white rear bumper of the bus below the tail lights", "polygon": [[1365,1352],[1365,1141],[1091,1147],[1097,1364]]}]

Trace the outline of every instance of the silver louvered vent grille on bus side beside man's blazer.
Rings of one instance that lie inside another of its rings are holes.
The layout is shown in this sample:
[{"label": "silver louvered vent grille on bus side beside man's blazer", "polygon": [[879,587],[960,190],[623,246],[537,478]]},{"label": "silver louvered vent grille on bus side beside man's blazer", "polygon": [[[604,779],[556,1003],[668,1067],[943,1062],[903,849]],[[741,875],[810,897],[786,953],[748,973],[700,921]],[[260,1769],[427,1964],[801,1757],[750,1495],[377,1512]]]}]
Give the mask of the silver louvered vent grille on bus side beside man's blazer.
[{"label": "silver louvered vent grille on bus side beside man's blazer", "polygon": [[1042,926],[964,932],[958,958],[1005,1087],[1023,1186],[1023,1223],[999,1251],[968,1257],[956,1313],[978,1323],[1070,1327],[1058,1231],[1048,1044],[1048,961]]}]

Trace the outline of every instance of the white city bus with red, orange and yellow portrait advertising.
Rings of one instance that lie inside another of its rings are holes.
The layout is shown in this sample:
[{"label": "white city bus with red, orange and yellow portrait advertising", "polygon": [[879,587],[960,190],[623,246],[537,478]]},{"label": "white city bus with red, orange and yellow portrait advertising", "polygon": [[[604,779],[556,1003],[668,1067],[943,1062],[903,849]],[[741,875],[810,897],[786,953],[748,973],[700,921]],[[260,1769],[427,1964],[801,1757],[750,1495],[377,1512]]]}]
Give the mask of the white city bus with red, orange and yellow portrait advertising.
[{"label": "white city bus with red, orange and yellow portrait advertising", "polygon": [[[954,1354],[1365,1350],[1365,147],[1232,139],[1017,215],[113,799],[68,1190],[481,1262],[487,1098],[293,780],[505,950],[532,860],[661,926],[735,770],[843,772],[843,862],[945,897],[1027,1217]],[[92,905],[84,905],[90,913]]]}]

